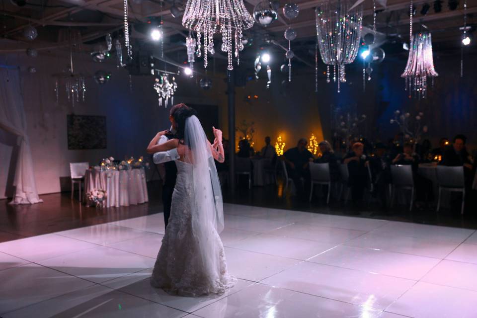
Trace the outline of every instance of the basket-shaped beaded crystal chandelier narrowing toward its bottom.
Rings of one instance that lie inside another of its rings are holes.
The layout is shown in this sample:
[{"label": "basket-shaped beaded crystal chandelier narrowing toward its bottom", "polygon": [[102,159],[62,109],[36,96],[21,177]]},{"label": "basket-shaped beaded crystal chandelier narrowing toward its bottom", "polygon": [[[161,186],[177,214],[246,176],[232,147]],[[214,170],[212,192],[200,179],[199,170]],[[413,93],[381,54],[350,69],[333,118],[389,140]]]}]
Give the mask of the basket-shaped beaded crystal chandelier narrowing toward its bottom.
[{"label": "basket-shaped beaded crystal chandelier narrowing toward its bottom", "polygon": [[345,65],[353,63],[358,54],[363,23],[362,6],[351,8],[350,0],[328,0],[315,10],[317,41],[321,60],[326,64],[326,81],[346,81]]}]

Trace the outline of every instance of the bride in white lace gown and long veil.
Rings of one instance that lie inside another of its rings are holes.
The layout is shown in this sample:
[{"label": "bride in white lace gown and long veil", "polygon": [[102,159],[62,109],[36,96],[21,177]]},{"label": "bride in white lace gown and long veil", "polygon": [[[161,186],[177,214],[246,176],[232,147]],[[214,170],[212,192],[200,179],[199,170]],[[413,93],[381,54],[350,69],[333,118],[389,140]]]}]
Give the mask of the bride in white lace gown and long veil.
[{"label": "bride in white lace gown and long veil", "polygon": [[195,111],[183,108],[174,114],[177,138],[156,145],[149,153],[177,148],[177,180],[151,284],[169,294],[197,297],[222,294],[237,282],[227,271],[224,245],[222,193],[214,159],[224,160],[222,132],[214,128],[211,145]]}]

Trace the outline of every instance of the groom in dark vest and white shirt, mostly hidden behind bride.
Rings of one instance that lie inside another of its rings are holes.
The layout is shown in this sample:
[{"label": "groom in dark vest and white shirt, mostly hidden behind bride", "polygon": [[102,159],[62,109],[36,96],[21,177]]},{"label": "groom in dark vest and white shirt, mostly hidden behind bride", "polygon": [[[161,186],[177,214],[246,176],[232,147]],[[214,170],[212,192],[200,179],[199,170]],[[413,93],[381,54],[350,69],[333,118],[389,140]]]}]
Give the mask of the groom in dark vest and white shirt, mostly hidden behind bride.
[{"label": "groom in dark vest and white shirt, mostly hidden behind bride", "polygon": [[[177,104],[172,106],[169,113],[169,120],[171,123],[170,129],[167,133],[160,137],[158,145],[167,142],[170,139],[175,138],[175,122],[174,113],[182,108],[187,107],[185,104]],[[177,177],[177,167],[174,160],[179,159],[179,154],[176,149],[172,149],[165,152],[155,153],[153,155],[153,161],[156,164],[164,163],[165,178],[162,186],[162,204],[164,205],[164,224],[167,228],[167,223],[170,216],[170,206],[172,203],[172,193],[174,192],[175,179]]]}]

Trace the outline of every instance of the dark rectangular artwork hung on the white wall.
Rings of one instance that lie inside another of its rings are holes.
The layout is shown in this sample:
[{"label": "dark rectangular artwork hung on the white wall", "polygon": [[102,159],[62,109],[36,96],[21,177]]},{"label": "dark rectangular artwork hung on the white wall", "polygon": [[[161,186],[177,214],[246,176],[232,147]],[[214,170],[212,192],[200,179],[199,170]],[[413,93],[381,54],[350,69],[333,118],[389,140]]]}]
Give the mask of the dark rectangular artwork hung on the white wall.
[{"label": "dark rectangular artwork hung on the white wall", "polygon": [[68,149],[106,149],[106,116],[67,115]]}]

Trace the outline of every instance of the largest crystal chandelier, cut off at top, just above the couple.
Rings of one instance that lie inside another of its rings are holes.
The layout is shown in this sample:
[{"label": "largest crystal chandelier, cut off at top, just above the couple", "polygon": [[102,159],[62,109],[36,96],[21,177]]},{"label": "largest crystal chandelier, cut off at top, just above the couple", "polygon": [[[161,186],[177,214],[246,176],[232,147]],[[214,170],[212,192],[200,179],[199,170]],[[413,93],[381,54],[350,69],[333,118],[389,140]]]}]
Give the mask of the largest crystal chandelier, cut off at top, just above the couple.
[{"label": "largest crystal chandelier, cut off at top, just above the couple", "polygon": [[221,50],[228,53],[227,69],[232,71],[232,55],[239,64],[239,51],[243,50],[242,31],[253,25],[253,18],[242,0],[187,0],[182,25],[197,32],[198,57],[204,37],[204,67],[207,67],[207,52],[215,53],[214,34],[222,33]]}]

